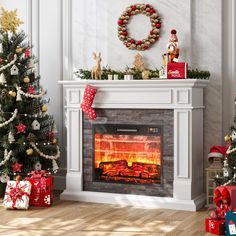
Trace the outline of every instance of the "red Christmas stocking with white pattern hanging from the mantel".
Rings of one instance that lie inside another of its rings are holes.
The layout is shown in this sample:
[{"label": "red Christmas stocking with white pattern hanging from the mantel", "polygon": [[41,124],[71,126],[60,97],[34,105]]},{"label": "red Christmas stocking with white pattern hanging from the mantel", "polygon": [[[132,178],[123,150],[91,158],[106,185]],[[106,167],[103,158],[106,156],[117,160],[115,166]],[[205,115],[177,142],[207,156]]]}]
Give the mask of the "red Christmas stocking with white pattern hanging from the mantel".
[{"label": "red Christmas stocking with white pattern hanging from the mantel", "polygon": [[95,110],[91,107],[93,104],[93,100],[97,89],[90,85],[86,85],[84,90],[83,101],[80,104],[82,111],[88,116],[90,120],[95,120],[97,118],[97,114]]}]

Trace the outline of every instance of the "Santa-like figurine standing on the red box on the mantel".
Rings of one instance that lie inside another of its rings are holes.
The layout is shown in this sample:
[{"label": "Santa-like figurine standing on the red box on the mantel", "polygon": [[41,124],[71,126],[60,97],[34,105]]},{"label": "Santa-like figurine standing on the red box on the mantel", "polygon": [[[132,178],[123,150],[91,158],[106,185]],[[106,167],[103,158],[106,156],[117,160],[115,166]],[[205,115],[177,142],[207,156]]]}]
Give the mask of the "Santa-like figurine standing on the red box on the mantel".
[{"label": "Santa-like figurine standing on the red box on the mantel", "polygon": [[171,30],[171,35],[167,43],[167,51],[170,55],[171,62],[178,62],[179,57],[179,47],[178,47],[178,38],[176,36],[177,31],[175,29]]}]

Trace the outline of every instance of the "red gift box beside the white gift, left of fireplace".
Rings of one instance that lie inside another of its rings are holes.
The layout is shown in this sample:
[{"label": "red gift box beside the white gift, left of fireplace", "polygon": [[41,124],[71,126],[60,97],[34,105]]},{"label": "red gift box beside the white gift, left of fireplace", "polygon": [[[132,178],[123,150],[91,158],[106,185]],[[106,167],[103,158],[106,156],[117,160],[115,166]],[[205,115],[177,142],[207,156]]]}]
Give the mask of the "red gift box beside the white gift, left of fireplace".
[{"label": "red gift box beside the white gift, left of fireplace", "polygon": [[32,184],[30,206],[47,207],[53,201],[53,179],[46,171],[32,171],[27,180]]}]

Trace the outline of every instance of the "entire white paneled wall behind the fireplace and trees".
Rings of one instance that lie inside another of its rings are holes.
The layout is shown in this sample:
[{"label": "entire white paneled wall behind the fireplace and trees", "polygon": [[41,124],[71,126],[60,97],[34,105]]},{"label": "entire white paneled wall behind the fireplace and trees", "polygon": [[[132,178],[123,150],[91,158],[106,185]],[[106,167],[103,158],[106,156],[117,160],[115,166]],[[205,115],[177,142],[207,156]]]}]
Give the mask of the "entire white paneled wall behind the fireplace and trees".
[{"label": "entire white paneled wall behind the fireplace and trees", "polygon": [[[94,65],[93,51],[102,53],[103,65],[114,69],[131,66],[137,51],[125,48],[117,38],[117,19],[138,0],[1,0],[0,5],[18,8],[39,56],[42,83],[51,98],[49,112],[62,131],[62,94],[57,81],[75,79],[78,68]],[[209,70],[210,85],[205,102],[205,157],[212,145],[223,144],[223,136],[234,114],[235,94],[235,11],[234,0],[149,0],[161,15],[159,41],[141,52],[150,68],[159,68],[169,32],[178,31],[181,60],[192,68]],[[149,31],[145,17],[135,16],[131,32],[138,36]],[[146,33],[145,33],[146,34]],[[145,35],[144,34],[144,35]],[[63,133],[61,132],[61,140]],[[65,139],[63,140],[65,145]],[[65,156],[63,156],[65,166]],[[205,161],[207,163],[207,159]]]}]

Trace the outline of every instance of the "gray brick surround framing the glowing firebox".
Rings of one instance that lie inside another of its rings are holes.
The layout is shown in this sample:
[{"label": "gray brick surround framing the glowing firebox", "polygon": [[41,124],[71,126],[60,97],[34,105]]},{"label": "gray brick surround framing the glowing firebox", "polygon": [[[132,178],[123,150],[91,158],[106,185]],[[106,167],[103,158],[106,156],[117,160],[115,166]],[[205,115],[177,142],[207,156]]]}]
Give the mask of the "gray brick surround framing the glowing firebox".
[{"label": "gray brick surround framing the glowing firebox", "polygon": [[[174,179],[174,112],[173,110],[97,109],[96,121],[83,116],[83,190],[108,193],[141,194],[173,197]],[[127,120],[127,117],[129,119]],[[92,123],[149,124],[163,128],[163,184],[121,184],[93,181]]]}]

